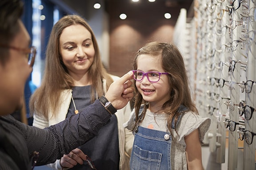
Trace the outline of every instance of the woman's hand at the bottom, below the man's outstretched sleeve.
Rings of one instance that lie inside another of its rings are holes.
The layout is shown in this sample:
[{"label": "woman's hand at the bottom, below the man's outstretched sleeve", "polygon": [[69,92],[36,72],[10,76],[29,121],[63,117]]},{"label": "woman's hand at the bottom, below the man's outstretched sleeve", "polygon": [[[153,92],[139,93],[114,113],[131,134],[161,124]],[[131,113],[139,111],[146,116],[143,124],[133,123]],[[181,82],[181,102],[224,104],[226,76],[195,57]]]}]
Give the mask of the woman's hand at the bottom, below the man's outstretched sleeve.
[{"label": "woman's hand at the bottom, below the man's outstretched sleeve", "polygon": [[69,152],[68,155],[64,155],[62,158],[60,158],[60,165],[65,168],[72,168],[79,163],[82,165],[84,161],[87,159],[87,155],[84,154],[83,151],[76,148]]}]

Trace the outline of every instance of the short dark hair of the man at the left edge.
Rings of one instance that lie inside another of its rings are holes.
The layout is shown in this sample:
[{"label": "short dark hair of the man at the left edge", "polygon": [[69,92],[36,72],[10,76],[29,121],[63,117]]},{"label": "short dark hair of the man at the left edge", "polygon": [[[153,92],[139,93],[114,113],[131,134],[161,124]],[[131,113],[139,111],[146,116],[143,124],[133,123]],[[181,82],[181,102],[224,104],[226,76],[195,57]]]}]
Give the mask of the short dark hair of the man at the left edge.
[{"label": "short dark hair of the man at the left edge", "polygon": [[[0,44],[9,45],[20,31],[18,20],[23,14],[21,0],[0,0]],[[4,66],[9,50],[0,48],[0,64]]]}]

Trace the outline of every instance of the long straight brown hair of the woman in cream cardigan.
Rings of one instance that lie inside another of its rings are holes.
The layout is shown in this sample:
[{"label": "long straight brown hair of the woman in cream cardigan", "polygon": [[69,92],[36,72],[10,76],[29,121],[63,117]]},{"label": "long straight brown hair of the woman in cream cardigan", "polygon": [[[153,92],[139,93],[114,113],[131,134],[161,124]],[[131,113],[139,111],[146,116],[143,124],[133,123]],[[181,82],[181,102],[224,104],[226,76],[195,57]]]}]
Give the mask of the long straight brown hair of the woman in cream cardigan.
[{"label": "long straight brown hair of the woman in cream cardigan", "polygon": [[102,79],[105,78],[107,80],[107,89],[113,81],[102,64],[96,37],[89,24],[79,15],[64,16],[52,28],[46,50],[45,70],[42,84],[32,94],[29,102],[31,113],[37,112],[44,117],[47,117],[48,112],[51,110],[54,116],[54,113],[59,109],[58,106],[61,103],[61,91],[64,89],[72,89],[74,86],[72,78],[68,74],[68,70],[66,66],[64,66],[60,55],[60,35],[64,28],[71,25],[82,25],[92,35],[95,56],[92,66],[88,70],[88,75],[90,75],[88,81],[92,82],[92,102],[95,100],[95,92],[97,92],[98,96],[104,94]]}]

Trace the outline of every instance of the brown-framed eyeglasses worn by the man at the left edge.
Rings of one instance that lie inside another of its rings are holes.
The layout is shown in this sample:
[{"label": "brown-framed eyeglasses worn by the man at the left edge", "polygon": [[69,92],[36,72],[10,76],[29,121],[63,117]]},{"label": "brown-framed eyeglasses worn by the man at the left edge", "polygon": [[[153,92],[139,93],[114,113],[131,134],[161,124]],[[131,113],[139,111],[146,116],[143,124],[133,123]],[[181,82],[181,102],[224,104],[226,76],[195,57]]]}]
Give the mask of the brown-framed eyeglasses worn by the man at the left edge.
[{"label": "brown-framed eyeglasses worn by the man at the left edge", "polygon": [[8,45],[0,44],[0,47],[9,48],[9,49],[16,50],[16,51],[26,54],[26,58],[28,58],[28,66],[32,67],[34,65],[35,58],[36,58],[36,47],[35,46],[32,46],[28,49],[22,49],[22,48],[18,48],[15,46],[8,46]]}]

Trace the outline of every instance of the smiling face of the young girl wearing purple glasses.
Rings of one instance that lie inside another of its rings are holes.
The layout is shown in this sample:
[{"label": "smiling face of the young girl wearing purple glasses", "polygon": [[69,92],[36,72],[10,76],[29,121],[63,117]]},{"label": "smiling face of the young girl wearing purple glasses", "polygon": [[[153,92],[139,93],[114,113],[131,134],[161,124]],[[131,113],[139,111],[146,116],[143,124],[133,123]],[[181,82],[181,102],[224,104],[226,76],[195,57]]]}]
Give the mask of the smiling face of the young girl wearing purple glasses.
[{"label": "smiling face of the young girl wearing purple glasses", "polygon": [[[141,54],[137,59],[137,70],[144,73],[149,71],[164,72],[160,60],[161,56]],[[146,76],[141,81],[136,81],[136,87],[145,101],[149,102],[152,112],[159,110],[170,99],[170,84],[168,75],[161,74],[158,82],[150,82]]]}]

